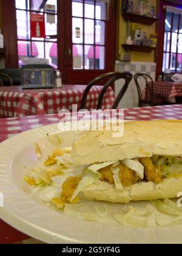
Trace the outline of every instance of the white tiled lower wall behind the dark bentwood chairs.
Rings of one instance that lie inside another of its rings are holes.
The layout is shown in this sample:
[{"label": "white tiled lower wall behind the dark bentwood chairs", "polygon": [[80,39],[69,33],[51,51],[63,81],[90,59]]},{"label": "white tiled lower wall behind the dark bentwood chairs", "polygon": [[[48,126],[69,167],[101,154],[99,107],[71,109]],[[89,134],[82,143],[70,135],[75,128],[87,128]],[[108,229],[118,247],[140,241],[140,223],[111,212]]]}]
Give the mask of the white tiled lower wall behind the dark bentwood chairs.
[{"label": "white tiled lower wall behind the dark bentwood chairs", "polygon": [[[116,61],[115,64],[115,71],[130,71],[133,75],[136,73],[146,73],[155,80],[155,70],[156,70],[156,63],[150,62],[118,62]],[[145,86],[145,82],[143,79],[140,80],[141,90],[143,90]],[[116,96],[121,90],[124,81],[117,80],[115,83],[115,93]],[[136,90],[136,85],[134,79],[129,84],[129,88],[124,94],[123,99],[120,102],[120,108],[129,108],[129,107],[138,107],[138,93]]]}]

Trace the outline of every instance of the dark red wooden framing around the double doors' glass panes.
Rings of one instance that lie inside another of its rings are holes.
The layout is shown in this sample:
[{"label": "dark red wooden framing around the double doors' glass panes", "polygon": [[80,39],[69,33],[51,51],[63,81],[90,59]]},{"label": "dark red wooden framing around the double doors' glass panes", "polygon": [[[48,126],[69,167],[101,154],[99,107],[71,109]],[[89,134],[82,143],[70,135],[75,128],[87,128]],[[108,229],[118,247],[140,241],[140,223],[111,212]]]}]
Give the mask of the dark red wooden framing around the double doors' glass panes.
[{"label": "dark red wooden framing around the double doors' glass panes", "polygon": [[[107,20],[106,31],[106,66],[105,69],[73,69],[72,54],[70,57],[70,46],[72,45],[72,16],[67,18],[67,13],[72,10],[71,0],[58,0],[58,69],[62,74],[62,81],[66,84],[87,84],[103,73],[115,70],[116,59],[116,14],[118,0],[111,0],[109,9],[109,20]],[[15,0],[1,0],[4,43],[6,48],[5,67],[18,68],[18,42],[16,26]],[[61,17],[61,18],[60,18]]]}]

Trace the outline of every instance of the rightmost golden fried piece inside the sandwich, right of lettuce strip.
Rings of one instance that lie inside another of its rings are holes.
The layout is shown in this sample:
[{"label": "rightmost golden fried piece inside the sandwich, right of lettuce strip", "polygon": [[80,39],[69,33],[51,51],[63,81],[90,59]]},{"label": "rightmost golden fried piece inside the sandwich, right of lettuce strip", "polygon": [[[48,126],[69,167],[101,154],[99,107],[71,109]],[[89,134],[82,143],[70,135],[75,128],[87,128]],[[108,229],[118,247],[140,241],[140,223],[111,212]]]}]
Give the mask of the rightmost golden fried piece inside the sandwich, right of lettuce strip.
[{"label": "rightmost golden fried piece inside the sandwich, right of lettuce strip", "polygon": [[160,183],[162,181],[162,172],[160,166],[153,165],[150,157],[139,159],[144,166],[144,173],[148,182]]}]

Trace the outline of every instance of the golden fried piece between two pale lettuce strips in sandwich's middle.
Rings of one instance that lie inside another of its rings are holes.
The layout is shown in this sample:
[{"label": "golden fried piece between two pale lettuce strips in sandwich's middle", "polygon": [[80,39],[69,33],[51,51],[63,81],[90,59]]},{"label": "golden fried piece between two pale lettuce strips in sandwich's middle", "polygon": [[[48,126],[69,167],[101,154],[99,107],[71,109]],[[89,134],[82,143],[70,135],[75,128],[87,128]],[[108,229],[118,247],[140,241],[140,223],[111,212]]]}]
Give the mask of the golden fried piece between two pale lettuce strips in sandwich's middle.
[{"label": "golden fried piece between two pale lettuce strips in sandwich's middle", "polygon": [[118,166],[120,168],[119,177],[123,186],[127,187],[140,182],[140,178],[136,175],[135,171],[128,168],[123,163]]}]

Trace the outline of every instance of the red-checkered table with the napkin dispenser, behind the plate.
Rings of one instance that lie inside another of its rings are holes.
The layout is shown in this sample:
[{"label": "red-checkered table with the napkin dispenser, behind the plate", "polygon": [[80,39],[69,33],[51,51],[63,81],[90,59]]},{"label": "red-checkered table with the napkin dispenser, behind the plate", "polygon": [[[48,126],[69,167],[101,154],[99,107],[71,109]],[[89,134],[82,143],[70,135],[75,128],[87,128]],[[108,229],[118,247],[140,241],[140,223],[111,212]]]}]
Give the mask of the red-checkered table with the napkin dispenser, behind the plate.
[{"label": "red-checkered table with the napkin dispenser, behind the plate", "polygon": [[[86,85],[63,85],[62,88],[27,89],[20,86],[0,87],[0,118],[58,113],[62,108],[72,110],[72,105],[81,105]],[[87,96],[87,109],[95,109],[102,86],[95,86]],[[112,108],[115,94],[108,88],[103,99],[103,108]]]}]

